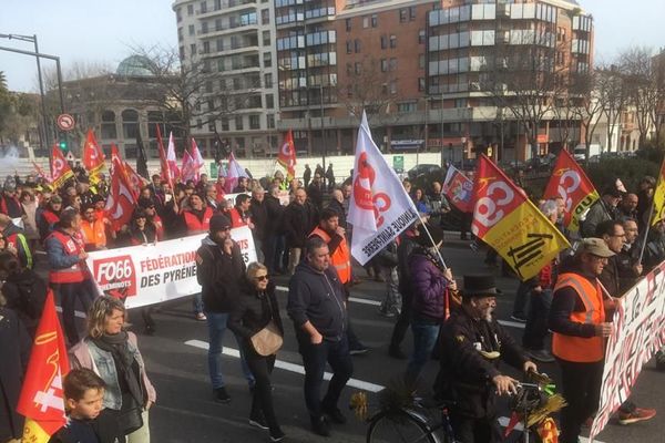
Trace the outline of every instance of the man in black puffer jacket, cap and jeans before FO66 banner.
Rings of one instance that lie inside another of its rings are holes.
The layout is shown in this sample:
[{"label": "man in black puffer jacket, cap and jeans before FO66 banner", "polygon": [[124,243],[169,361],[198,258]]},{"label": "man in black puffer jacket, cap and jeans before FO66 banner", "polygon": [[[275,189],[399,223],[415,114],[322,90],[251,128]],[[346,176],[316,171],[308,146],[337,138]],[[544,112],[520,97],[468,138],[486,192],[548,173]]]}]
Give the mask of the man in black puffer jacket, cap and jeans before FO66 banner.
[{"label": "man in black puffer jacket, cap and jeans before FO66 banner", "polygon": [[[238,285],[245,276],[245,261],[241,248],[231,238],[231,220],[216,214],[211,218],[209,235],[201,241],[196,251],[196,279],[201,285],[203,306],[208,324],[208,371],[215,400],[228,403],[231,396],[224,385],[219,364],[222,340],[226,331],[229,312],[234,310],[239,297]],[[241,340],[236,336],[238,344]],[[241,347],[241,364],[249,388],[254,377],[245,361]]]}]

